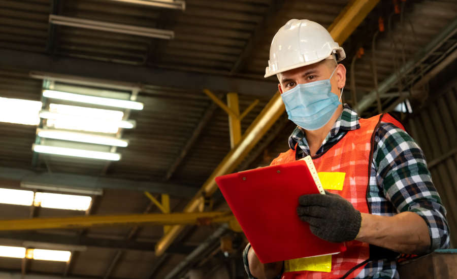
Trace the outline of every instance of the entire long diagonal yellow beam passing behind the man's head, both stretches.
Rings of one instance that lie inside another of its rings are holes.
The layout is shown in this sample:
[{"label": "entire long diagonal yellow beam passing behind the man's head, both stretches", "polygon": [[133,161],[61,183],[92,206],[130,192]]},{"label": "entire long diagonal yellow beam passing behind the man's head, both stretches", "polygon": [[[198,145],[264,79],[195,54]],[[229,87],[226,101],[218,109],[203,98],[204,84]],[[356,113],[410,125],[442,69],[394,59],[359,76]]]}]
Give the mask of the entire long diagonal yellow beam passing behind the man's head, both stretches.
[{"label": "entire long diagonal yellow beam passing behind the man's head, both stretches", "polygon": [[[349,24],[348,20],[349,22],[362,22],[362,20],[374,7],[372,5],[372,2],[377,1],[352,1],[345,8],[345,10],[337,17],[337,20],[335,20],[335,22],[332,24],[332,29],[330,29],[332,36],[335,38],[340,36],[340,33],[345,32],[345,28]],[[371,9],[369,9],[369,7],[371,7]],[[343,42],[341,42],[341,44],[342,43]],[[273,88],[274,87],[272,86],[268,90],[272,90]],[[268,132],[270,127],[281,116],[284,110],[284,104],[278,91],[269,101],[269,103],[267,103],[267,106],[264,108],[264,110],[260,112],[257,118],[255,118],[255,120],[246,130],[245,134],[241,138],[240,143],[225,156],[222,162],[216,167],[211,176],[202,186],[197,195],[195,195],[195,197],[193,197],[192,200],[190,200],[190,202],[186,205],[186,207],[183,210],[184,212],[196,211],[200,203],[202,202],[202,195],[205,194],[208,196],[213,194],[217,190],[217,185],[214,181],[214,178],[220,175],[225,175],[235,170],[235,168],[241,163],[241,161],[249,154],[252,148],[254,148],[254,146],[257,144],[260,138],[262,138]],[[170,231],[166,233],[157,243],[155,254],[157,256],[160,256],[163,253],[165,253],[167,248],[171,245],[171,243],[175,240],[175,238],[183,230],[183,228],[183,225],[172,226]]]}]

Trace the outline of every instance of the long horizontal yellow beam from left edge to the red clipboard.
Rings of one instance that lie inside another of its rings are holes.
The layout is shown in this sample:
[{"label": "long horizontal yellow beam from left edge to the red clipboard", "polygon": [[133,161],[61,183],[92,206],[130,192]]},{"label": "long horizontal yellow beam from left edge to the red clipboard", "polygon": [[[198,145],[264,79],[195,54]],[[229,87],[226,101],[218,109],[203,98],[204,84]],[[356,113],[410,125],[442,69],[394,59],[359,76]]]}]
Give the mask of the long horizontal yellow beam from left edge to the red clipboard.
[{"label": "long horizontal yellow beam from left edge to the red clipboard", "polygon": [[201,213],[154,213],[115,216],[78,216],[65,218],[33,218],[0,220],[0,231],[73,229],[95,226],[119,226],[133,224],[152,225],[207,225],[210,223],[230,223],[234,219],[231,212]]}]

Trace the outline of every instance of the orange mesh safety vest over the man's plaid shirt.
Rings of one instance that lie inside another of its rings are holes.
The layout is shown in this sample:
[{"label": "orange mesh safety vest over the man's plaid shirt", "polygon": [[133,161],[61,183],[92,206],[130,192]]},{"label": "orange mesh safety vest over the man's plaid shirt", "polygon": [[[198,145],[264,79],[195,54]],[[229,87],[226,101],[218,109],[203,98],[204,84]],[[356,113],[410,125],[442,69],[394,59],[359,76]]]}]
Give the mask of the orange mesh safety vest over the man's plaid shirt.
[{"label": "orange mesh safety vest over the man's plaid shirt", "polygon": [[[377,130],[381,121],[392,123],[404,129],[399,121],[388,114],[378,115],[368,119],[361,118],[359,120],[360,129],[348,131],[327,152],[312,158],[318,172],[346,173],[343,189],[328,191],[344,197],[361,213],[369,213],[367,189],[369,187],[373,156],[374,131]],[[295,161],[297,147],[296,145],[295,150],[289,149],[281,153],[273,160],[271,165]],[[285,270],[282,279],[340,278],[351,268],[361,264],[361,266],[346,276],[347,278],[353,278],[364,268],[364,264],[362,263],[370,258],[370,247],[368,243],[357,240],[346,242],[346,247],[347,250],[345,252],[332,255],[331,272]]]}]

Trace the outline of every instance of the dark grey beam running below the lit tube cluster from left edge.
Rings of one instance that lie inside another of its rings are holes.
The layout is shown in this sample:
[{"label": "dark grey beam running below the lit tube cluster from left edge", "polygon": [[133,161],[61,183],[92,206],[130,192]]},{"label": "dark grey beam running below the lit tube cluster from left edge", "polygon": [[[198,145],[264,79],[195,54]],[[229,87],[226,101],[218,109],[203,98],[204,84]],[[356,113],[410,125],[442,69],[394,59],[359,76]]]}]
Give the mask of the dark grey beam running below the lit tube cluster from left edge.
[{"label": "dark grey beam running below the lit tube cluster from left edge", "polygon": [[92,177],[59,172],[38,172],[21,168],[0,167],[0,179],[18,180],[22,183],[66,187],[75,189],[113,189],[148,191],[170,194],[175,197],[189,198],[197,192],[191,186],[167,182],[144,182],[107,177]]}]

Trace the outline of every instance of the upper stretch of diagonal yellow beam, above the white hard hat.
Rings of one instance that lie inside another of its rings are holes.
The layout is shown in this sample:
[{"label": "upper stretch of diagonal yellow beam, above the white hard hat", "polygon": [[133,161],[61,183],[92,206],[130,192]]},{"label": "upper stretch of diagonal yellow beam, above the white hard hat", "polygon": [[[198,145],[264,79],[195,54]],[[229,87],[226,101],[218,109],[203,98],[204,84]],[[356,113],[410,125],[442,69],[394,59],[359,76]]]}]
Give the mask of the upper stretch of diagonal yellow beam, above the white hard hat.
[{"label": "upper stretch of diagonal yellow beam, above the white hard hat", "polygon": [[341,46],[378,2],[379,0],[351,0],[328,29],[333,40]]}]

